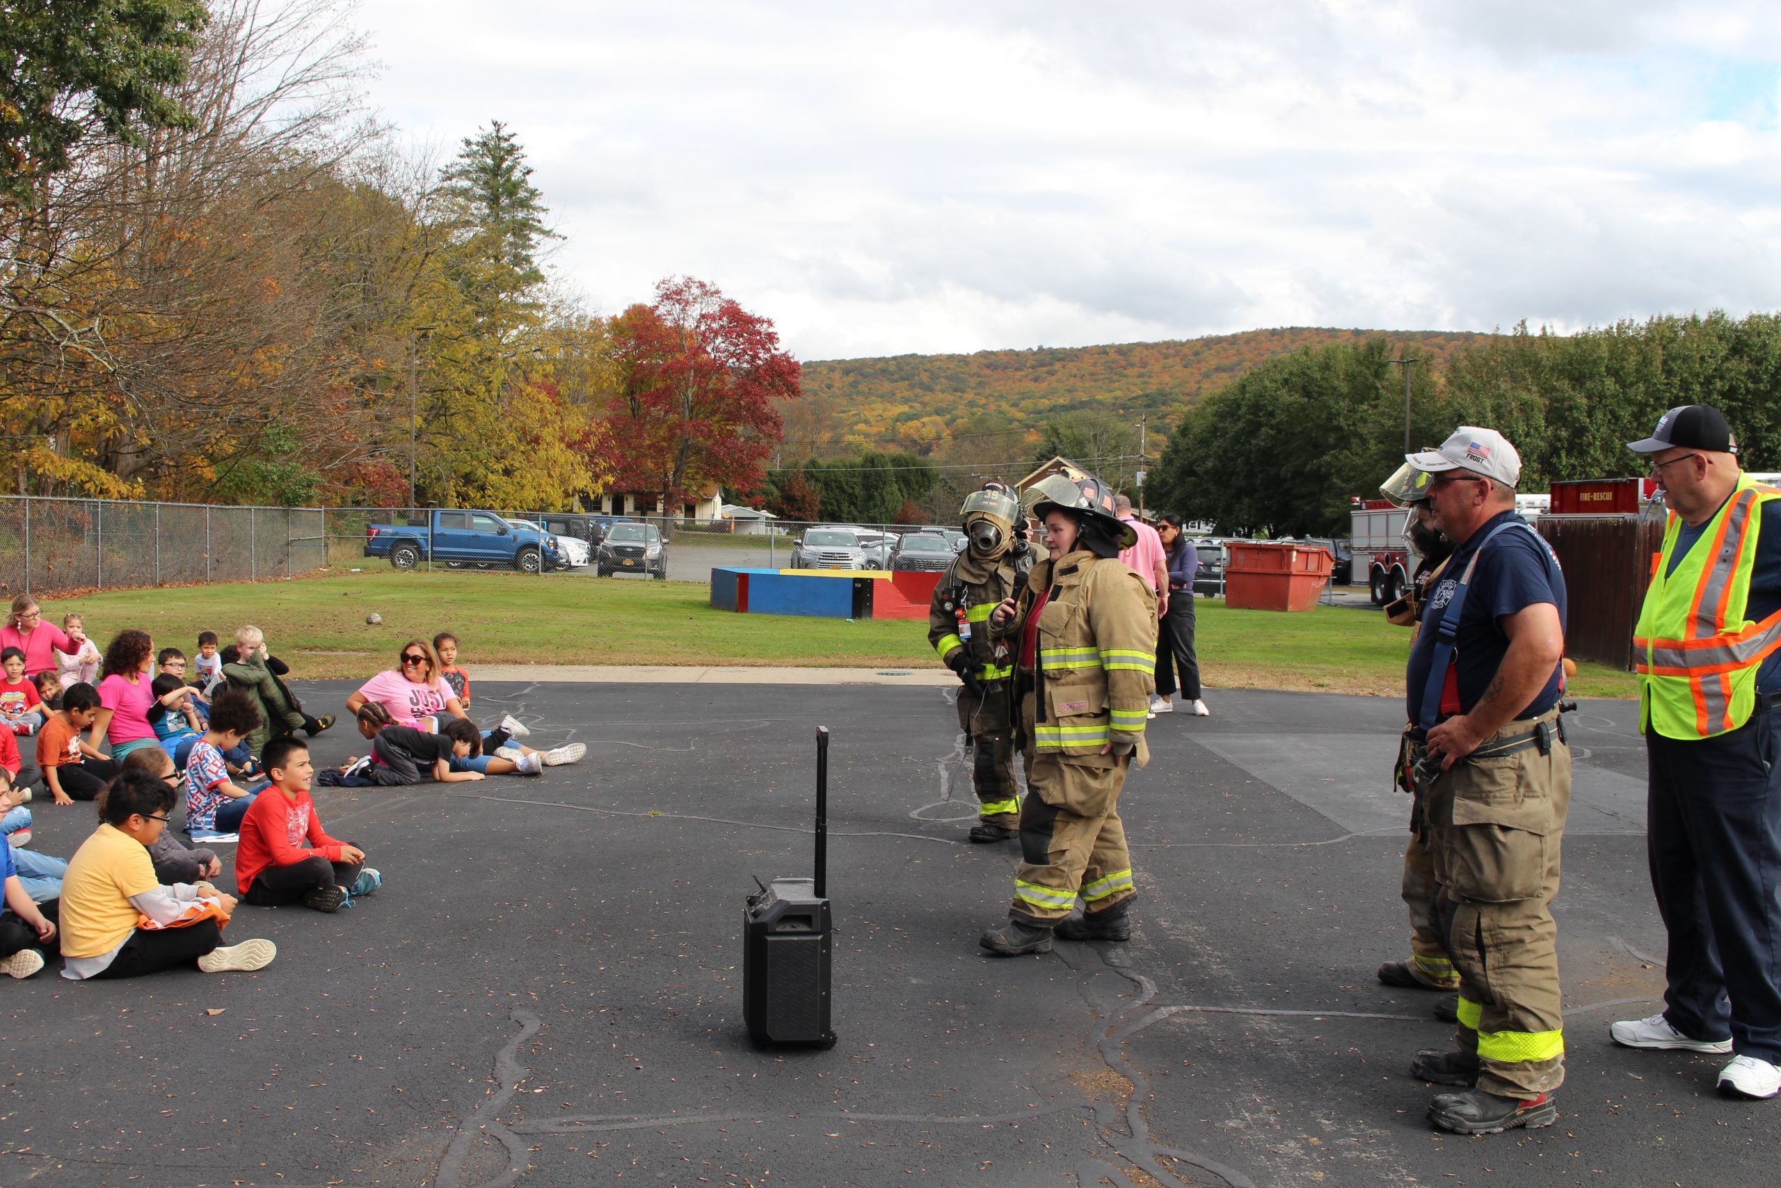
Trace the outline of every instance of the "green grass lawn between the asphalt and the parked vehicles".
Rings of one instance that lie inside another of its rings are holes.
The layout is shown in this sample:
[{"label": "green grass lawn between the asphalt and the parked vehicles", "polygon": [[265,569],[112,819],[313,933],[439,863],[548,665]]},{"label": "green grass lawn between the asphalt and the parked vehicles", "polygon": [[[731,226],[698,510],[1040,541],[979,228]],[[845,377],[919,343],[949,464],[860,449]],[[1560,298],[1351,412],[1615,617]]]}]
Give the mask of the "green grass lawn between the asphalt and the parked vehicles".
[{"label": "green grass lawn between the asphalt and the parked vehicles", "polygon": [[[372,570],[281,582],[118,590],[50,598],[45,616],[87,616],[103,641],[141,627],[157,647],[191,654],[199,631],[230,643],[242,623],[265,631],[299,677],[365,677],[403,643],[451,631],[477,664],[794,664],[937,668],[921,622],[846,622],[714,611],[696,582],[575,575]],[[383,622],[367,625],[367,614]],[[1305,614],[1229,611],[1199,602],[1206,682],[1225,688],[1402,696],[1411,634],[1384,614],[1318,607]],[[1631,696],[1631,673],[1583,664],[1580,696]]]}]

